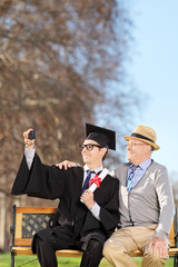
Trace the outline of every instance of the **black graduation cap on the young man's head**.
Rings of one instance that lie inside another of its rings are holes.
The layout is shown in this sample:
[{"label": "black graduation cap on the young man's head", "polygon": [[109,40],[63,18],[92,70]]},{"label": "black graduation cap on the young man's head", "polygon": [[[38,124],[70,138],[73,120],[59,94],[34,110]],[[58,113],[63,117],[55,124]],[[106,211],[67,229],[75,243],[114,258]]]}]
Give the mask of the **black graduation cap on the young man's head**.
[{"label": "black graduation cap on the young man's head", "polygon": [[101,147],[116,150],[116,132],[112,130],[86,123],[86,137],[97,141]]}]

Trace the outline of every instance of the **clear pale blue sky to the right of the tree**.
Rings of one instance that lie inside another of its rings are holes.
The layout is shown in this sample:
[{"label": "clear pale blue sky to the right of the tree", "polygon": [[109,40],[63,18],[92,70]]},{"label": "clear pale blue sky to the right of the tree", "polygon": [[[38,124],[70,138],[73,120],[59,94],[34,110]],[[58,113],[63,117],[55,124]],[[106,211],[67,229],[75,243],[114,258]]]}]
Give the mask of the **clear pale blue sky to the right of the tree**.
[{"label": "clear pale blue sky to the right of the tree", "polygon": [[178,175],[178,0],[130,0],[128,11],[134,43],[127,72],[147,95],[136,126],[157,131],[160,149],[152,158]]}]

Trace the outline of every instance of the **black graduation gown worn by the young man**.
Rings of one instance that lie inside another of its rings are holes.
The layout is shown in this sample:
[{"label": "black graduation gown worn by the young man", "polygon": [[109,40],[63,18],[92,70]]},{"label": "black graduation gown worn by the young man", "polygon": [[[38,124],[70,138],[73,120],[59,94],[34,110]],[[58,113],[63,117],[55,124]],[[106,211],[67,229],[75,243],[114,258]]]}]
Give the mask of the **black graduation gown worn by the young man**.
[{"label": "black graduation gown worn by the young man", "polygon": [[[82,167],[65,170],[56,166],[47,166],[36,154],[29,170],[26,157],[22,158],[11,194],[27,194],[30,197],[51,200],[59,198],[52,228],[49,230],[51,233],[49,234],[48,230],[37,233],[41,238],[46,238],[47,235],[52,236],[52,240],[49,241],[53,243],[56,249],[68,248],[78,240],[88,243],[90,238],[103,244],[118,224],[118,180],[107,175],[93,192],[93,199],[100,206],[100,221],[80,201],[82,181]],[[63,245],[60,244],[61,239]],[[68,240],[67,245],[65,240]],[[32,250],[36,253],[33,246]]]}]

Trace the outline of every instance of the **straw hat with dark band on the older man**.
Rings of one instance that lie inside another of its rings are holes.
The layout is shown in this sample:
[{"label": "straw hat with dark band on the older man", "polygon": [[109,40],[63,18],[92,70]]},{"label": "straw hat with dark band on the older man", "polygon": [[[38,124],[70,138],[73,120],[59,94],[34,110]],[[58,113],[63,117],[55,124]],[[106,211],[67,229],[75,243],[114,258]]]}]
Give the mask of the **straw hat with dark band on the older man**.
[{"label": "straw hat with dark band on the older man", "polygon": [[127,136],[125,137],[127,141],[129,141],[130,138],[149,144],[154,148],[154,150],[159,149],[159,146],[156,145],[157,134],[150,127],[141,126],[141,125],[137,126],[136,130],[131,134],[130,137],[127,137]]}]

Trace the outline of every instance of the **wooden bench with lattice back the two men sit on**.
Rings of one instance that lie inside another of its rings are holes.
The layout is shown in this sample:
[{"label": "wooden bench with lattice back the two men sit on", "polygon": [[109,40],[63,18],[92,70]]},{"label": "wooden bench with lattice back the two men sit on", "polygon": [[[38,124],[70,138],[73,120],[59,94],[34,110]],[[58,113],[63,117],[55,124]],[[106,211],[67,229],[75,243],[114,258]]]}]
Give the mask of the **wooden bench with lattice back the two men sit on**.
[{"label": "wooden bench with lattice back the two men sit on", "polygon": [[[14,267],[14,256],[33,255],[31,251],[31,239],[34,233],[49,226],[56,208],[48,207],[12,207],[11,231],[11,267]],[[177,209],[169,234],[170,248],[169,256],[174,257],[174,267],[178,267],[178,243],[177,243]],[[58,250],[57,256],[81,257],[82,251],[62,249]],[[130,254],[131,257],[142,257],[142,251],[137,250]]]}]

